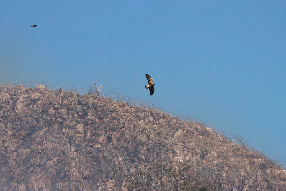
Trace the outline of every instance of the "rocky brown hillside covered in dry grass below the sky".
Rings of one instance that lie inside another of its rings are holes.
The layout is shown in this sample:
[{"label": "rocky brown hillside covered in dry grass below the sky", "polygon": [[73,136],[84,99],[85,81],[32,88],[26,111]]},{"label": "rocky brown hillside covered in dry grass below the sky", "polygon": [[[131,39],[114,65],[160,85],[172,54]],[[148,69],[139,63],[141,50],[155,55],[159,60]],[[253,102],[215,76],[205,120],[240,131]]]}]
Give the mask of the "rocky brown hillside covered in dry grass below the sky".
[{"label": "rocky brown hillside covered in dry grass below the sky", "polygon": [[286,190],[286,171],[192,121],[0,86],[0,190]]}]

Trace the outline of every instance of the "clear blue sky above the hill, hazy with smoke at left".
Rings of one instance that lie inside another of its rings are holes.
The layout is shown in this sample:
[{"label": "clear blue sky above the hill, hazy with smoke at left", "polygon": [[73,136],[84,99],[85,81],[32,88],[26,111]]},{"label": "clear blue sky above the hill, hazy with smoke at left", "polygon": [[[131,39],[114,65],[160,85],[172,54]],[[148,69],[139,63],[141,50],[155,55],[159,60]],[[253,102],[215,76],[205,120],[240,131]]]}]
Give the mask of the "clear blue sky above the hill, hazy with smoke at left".
[{"label": "clear blue sky above the hill, hazy with smoke at left", "polygon": [[285,10],[286,1],[3,1],[0,82],[88,92],[98,81],[104,94],[241,137],[285,168]]}]

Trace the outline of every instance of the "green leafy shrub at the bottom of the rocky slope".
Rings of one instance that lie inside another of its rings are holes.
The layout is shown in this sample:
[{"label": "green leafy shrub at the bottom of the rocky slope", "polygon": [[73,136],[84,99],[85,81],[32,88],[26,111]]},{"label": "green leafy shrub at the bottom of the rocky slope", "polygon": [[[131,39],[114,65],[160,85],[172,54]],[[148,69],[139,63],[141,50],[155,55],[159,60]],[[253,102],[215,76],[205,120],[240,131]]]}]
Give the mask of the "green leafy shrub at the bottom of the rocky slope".
[{"label": "green leafy shrub at the bottom of the rocky slope", "polygon": [[170,161],[167,164],[156,164],[149,167],[146,171],[139,171],[138,175],[142,179],[127,179],[125,188],[128,191],[134,190],[152,190],[161,188],[162,190],[186,190],[186,191],[212,191],[215,187],[207,185],[198,178],[193,178],[188,174],[189,165],[183,162]]}]

